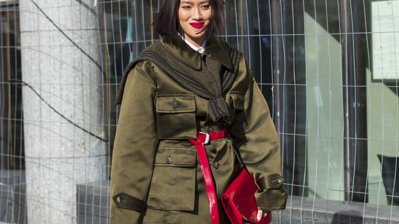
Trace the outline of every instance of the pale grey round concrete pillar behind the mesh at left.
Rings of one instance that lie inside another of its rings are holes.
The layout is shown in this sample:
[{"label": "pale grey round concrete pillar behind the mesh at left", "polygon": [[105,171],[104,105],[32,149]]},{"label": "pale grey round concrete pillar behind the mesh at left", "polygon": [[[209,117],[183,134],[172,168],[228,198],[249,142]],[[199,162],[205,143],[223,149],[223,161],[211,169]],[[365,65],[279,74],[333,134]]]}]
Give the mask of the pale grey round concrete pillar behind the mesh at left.
[{"label": "pale grey round concrete pillar behind the mesh at left", "polygon": [[77,184],[107,177],[105,142],[74,125],[104,138],[96,2],[19,1],[23,81],[42,98],[23,86],[29,223],[76,223]]}]

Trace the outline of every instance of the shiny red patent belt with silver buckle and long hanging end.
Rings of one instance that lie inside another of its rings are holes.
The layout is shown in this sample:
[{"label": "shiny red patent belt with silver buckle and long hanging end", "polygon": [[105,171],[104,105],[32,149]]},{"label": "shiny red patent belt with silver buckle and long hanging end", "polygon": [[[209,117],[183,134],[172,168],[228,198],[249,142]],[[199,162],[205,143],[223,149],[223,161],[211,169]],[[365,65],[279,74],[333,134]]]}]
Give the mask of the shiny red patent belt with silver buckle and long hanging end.
[{"label": "shiny red patent belt with silver buckle and long hanging end", "polygon": [[229,135],[229,129],[219,130],[210,133],[197,132],[197,139],[188,139],[189,142],[195,145],[198,154],[198,160],[200,160],[202,175],[204,176],[205,188],[207,190],[209,210],[211,212],[212,224],[219,223],[219,214],[217,211],[217,201],[215,187],[213,186],[212,174],[209,168],[207,154],[205,152],[204,144],[208,144],[210,141],[216,139],[223,139]]}]

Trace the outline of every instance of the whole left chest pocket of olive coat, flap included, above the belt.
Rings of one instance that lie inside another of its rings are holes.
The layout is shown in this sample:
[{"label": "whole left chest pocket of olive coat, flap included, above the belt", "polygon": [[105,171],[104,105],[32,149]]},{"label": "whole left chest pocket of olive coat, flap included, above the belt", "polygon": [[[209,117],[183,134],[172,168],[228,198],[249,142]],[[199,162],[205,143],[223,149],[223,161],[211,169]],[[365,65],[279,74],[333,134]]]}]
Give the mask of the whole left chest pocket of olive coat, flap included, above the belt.
[{"label": "whole left chest pocket of olive coat, flap included, above the belt", "polygon": [[159,139],[195,138],[194,95],[157,95],[156,101]]}]

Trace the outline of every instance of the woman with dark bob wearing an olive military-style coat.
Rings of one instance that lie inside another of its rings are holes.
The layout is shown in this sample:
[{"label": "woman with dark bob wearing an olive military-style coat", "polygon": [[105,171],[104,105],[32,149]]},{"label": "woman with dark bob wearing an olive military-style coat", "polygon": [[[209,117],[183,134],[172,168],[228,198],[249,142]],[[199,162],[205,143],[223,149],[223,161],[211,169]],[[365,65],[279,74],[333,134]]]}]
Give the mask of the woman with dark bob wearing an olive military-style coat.
[{"label": "woman with dark bob wearing an olive military-style coat", "polygon": [[154,28],[162,37],[128,65],[116,100],[110,223],[211,223],[196,146],[188,141],[198,131],[223,135],[205,145],[219,223],[229,222],[220,196],[240,162],[259,187],[258,219],[285,209],[267,103],[242,54],[216,38],[224,27],[223,0],[161,3]]}]

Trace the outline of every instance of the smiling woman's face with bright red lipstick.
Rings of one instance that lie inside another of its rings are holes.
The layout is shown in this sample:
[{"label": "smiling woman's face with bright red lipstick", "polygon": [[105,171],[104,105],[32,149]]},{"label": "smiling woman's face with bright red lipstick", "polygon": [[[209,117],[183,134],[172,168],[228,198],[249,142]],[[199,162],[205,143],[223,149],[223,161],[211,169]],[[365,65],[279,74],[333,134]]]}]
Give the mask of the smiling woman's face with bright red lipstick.
[{"label": "smiling woman's face with bright red lipstick", "polygon": [[181,0],[178,9],[180,34],[196,47],[201,47],[211,17],[209,0]]}]

